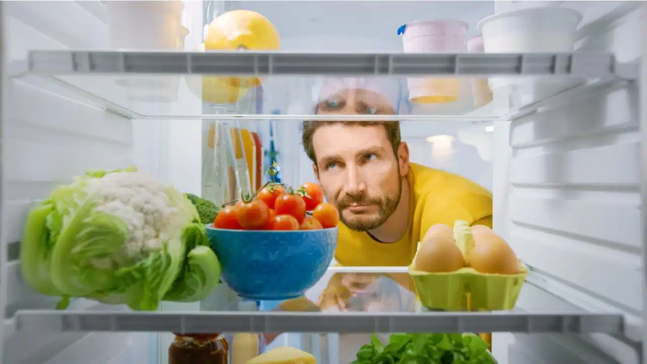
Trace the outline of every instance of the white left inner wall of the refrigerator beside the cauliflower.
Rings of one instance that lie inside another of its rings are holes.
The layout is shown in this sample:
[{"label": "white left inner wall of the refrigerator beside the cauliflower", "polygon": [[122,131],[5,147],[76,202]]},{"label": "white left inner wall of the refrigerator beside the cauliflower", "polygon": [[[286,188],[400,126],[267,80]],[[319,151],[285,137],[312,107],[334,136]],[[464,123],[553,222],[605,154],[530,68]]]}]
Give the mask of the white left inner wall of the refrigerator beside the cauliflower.
[{"label": "white left inner wall of the refrigerator beside the cauliflower", "polygon": [[[60,183],[93,169],[136,164],[160,175],[159,126],[132,122],[58,87],[46,79],[9,80],[32,49],[107,47],[105,7],[100,1],[3,1],[3,112],[1,137],[0,306],[3,363],[149,363],[157,334],[12,334],[21,308],[53,309],[55,297],[34,293],[21,279],[19,240],[28,207]],[[81,100],[82,102],[78,102]],[[155,124],[153,122],[153,124]],[[137,142],[134,142],[137,140]],[[125,309],[76,300],[71,309]]]}]

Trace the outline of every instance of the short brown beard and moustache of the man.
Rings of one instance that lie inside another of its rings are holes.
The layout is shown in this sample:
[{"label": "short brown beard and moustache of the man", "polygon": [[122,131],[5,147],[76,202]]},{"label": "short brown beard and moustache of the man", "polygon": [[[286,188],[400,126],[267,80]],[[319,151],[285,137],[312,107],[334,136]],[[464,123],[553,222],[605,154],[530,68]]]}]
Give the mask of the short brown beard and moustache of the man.
[{"label": "short brown beard and moustache of the man", "polygon": [[[387,194],[380,198],[368,198],[368,196],[349,196],[345,195],[337,201],[337,210],[339,218],[351,230],[369,231],[382,226],[391,217],[391,214],[398,207],[402,196],[402,178],[398,177],[398,190],[396,194]],[[361,215],[355,216],[356,219],[351,221],[344,218],[344,209],[350,207],[353,203],[358,205],[375,205],[378,208],[377,216],[370,219],[362,219]]]}]

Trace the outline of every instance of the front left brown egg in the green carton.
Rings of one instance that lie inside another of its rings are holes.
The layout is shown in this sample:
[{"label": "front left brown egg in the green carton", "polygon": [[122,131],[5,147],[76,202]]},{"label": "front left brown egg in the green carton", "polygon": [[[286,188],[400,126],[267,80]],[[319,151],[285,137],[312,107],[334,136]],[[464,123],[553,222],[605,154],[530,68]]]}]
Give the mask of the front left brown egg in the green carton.
[{"label": "front left brown egg in the green carton", "polygon": [[435,235],[421,243],[413,267],[428,273],[448,273],[465,267],[465,259],[454,238]]}]

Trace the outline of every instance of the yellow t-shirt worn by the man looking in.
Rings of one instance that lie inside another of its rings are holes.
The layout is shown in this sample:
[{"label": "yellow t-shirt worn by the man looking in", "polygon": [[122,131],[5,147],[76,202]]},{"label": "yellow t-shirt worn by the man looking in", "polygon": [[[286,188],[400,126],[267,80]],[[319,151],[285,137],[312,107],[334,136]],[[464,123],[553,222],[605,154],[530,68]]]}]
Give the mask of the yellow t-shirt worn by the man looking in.
[{"label": "yellow t-shirt worn by the man looking in", "polygon": [[342,266],[408,266],[418,242],[435,223],[455,220],[492,227],[492,193],[450,172],[411,163],[409,227],[397,242],[380,243],[364,231],[339,224],[335,260]]}]

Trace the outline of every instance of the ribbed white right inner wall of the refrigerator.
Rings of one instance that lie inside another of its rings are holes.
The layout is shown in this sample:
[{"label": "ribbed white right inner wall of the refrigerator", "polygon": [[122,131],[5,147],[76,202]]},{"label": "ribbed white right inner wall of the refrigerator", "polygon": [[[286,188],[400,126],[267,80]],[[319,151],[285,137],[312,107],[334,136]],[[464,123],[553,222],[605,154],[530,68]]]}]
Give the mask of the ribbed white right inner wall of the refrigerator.
[{"label": "ribbed white right inner wall of the refrigerator", "polygon": [[[565,1],[562,6],[584,14],[576,48],[613,52],[620,62],[630,62],[644,54],[643,4]],[[622,310],[630,317],[628,332],[639,340],[645,238],[639,87],[614,84],[581,96],[495,123],[494,228],[540,273],[540,286],[573,303],[547,300],[527,285],[521,309]],[[634,350],[640,344],[607,335],[498,334],[493,341],[498,358],[509,354],[502,363],[642,363]],[[512,345],[506,353],[501,343],[507,342]]]}]

